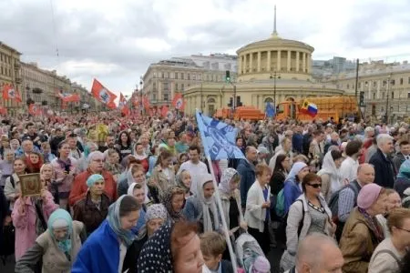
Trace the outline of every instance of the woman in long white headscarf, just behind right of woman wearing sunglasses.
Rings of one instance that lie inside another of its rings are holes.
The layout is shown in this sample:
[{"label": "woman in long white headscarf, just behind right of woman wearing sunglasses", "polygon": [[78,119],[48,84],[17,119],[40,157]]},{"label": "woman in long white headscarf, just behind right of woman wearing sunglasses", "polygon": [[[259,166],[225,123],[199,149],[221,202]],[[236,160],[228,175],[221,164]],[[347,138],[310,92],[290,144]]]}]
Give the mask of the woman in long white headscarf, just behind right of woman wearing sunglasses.
[{"label": "woman in long white headscarf, just behind right of woman wearing sunglasses", "polygon": [[[322,194],[326,202],[329,202],[333,193],[343,187],[342,174],[340,167],[342,166],[342,153],[329,148],[329,151],[323,157],[322,169],[317,173],[322,179]],[[337,148],[337,147],[336,147]]]}]

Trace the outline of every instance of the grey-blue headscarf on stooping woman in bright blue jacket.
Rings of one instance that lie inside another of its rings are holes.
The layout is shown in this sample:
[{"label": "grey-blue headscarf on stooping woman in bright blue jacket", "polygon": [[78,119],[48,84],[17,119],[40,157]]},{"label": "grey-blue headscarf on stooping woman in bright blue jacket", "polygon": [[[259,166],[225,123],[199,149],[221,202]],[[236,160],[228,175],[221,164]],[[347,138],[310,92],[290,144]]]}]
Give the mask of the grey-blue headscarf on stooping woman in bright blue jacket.
[{"label": "grey-blue headscarf on stooping woman in bright blue jacket", "polygon": [[112,230],[114,230],[117,236],[122,239],[122,241],[128,248],[132,244],[136,236],[134,233],[132,233],[131,230],[126,230],[121,227],[121,220],[119,218],[119,207],[121,207],[121,202],[122,199],[124,199],[124,197],[129,196],[123,195],[119,197],[115,203],[112,203],[111,206],[108,207],[107,220],[109,227],[111,227]]}]

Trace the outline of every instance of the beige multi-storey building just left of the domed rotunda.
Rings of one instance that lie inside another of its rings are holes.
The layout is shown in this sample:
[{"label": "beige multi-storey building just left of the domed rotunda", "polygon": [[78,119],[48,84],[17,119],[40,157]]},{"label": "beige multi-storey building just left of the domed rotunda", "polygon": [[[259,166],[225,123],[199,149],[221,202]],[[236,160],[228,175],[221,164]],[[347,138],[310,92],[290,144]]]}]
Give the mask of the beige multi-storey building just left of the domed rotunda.
[{"label": "beige multi-storey building just left of the domed rotunda", "polygon": [[[204,66],[210,66],[210,69]],[[173,57],[162,60],[150,65],[142,77],[142,94],[149,97],[152,106],[169,105],[175,93],[183,94],[190,86],[223,83],[229,68],[235,69],[236,66],[232,66],[232,56],[226,55]],[[231,79],[236,80],[235,71],[231,71]],[[141,96],[140,91],[138,95]]]}]

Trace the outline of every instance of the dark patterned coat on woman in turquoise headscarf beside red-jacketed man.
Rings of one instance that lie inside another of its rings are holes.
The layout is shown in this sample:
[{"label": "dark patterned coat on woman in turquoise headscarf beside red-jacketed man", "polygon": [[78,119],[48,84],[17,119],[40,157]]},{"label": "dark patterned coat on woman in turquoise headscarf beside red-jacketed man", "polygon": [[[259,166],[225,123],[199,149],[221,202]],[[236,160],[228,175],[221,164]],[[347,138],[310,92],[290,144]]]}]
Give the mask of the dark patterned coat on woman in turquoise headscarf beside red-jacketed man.
[{"label": "dark patterned coat on woman in turquoise headscarf beside red-jacketed man", "polygon": [[98,209],[91,201],[90,193],[87,192],[87,196],[74,205],[73,219],[83,222],[84,226],[86,226],[87,234],[90,234],[96,230],[107,217],[109,205],[109,197],[106,194],[103,194]]}]

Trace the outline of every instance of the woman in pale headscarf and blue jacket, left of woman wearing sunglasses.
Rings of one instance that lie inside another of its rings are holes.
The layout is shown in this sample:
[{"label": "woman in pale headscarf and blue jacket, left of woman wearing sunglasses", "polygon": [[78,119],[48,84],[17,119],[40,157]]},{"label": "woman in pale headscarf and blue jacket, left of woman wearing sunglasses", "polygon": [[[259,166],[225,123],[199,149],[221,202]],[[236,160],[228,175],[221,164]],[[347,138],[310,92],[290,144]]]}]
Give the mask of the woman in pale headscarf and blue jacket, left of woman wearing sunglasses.
[{"label": "woman in pale headscarf and blue jacket, left of woman wearing sunglasses", "polygon": [[302,195],[302,179],[309,173],[309,167],[302,162],[293,164],[291,172],[286,177],[283,187],[284,214],[288,213],[289,207]]}]

